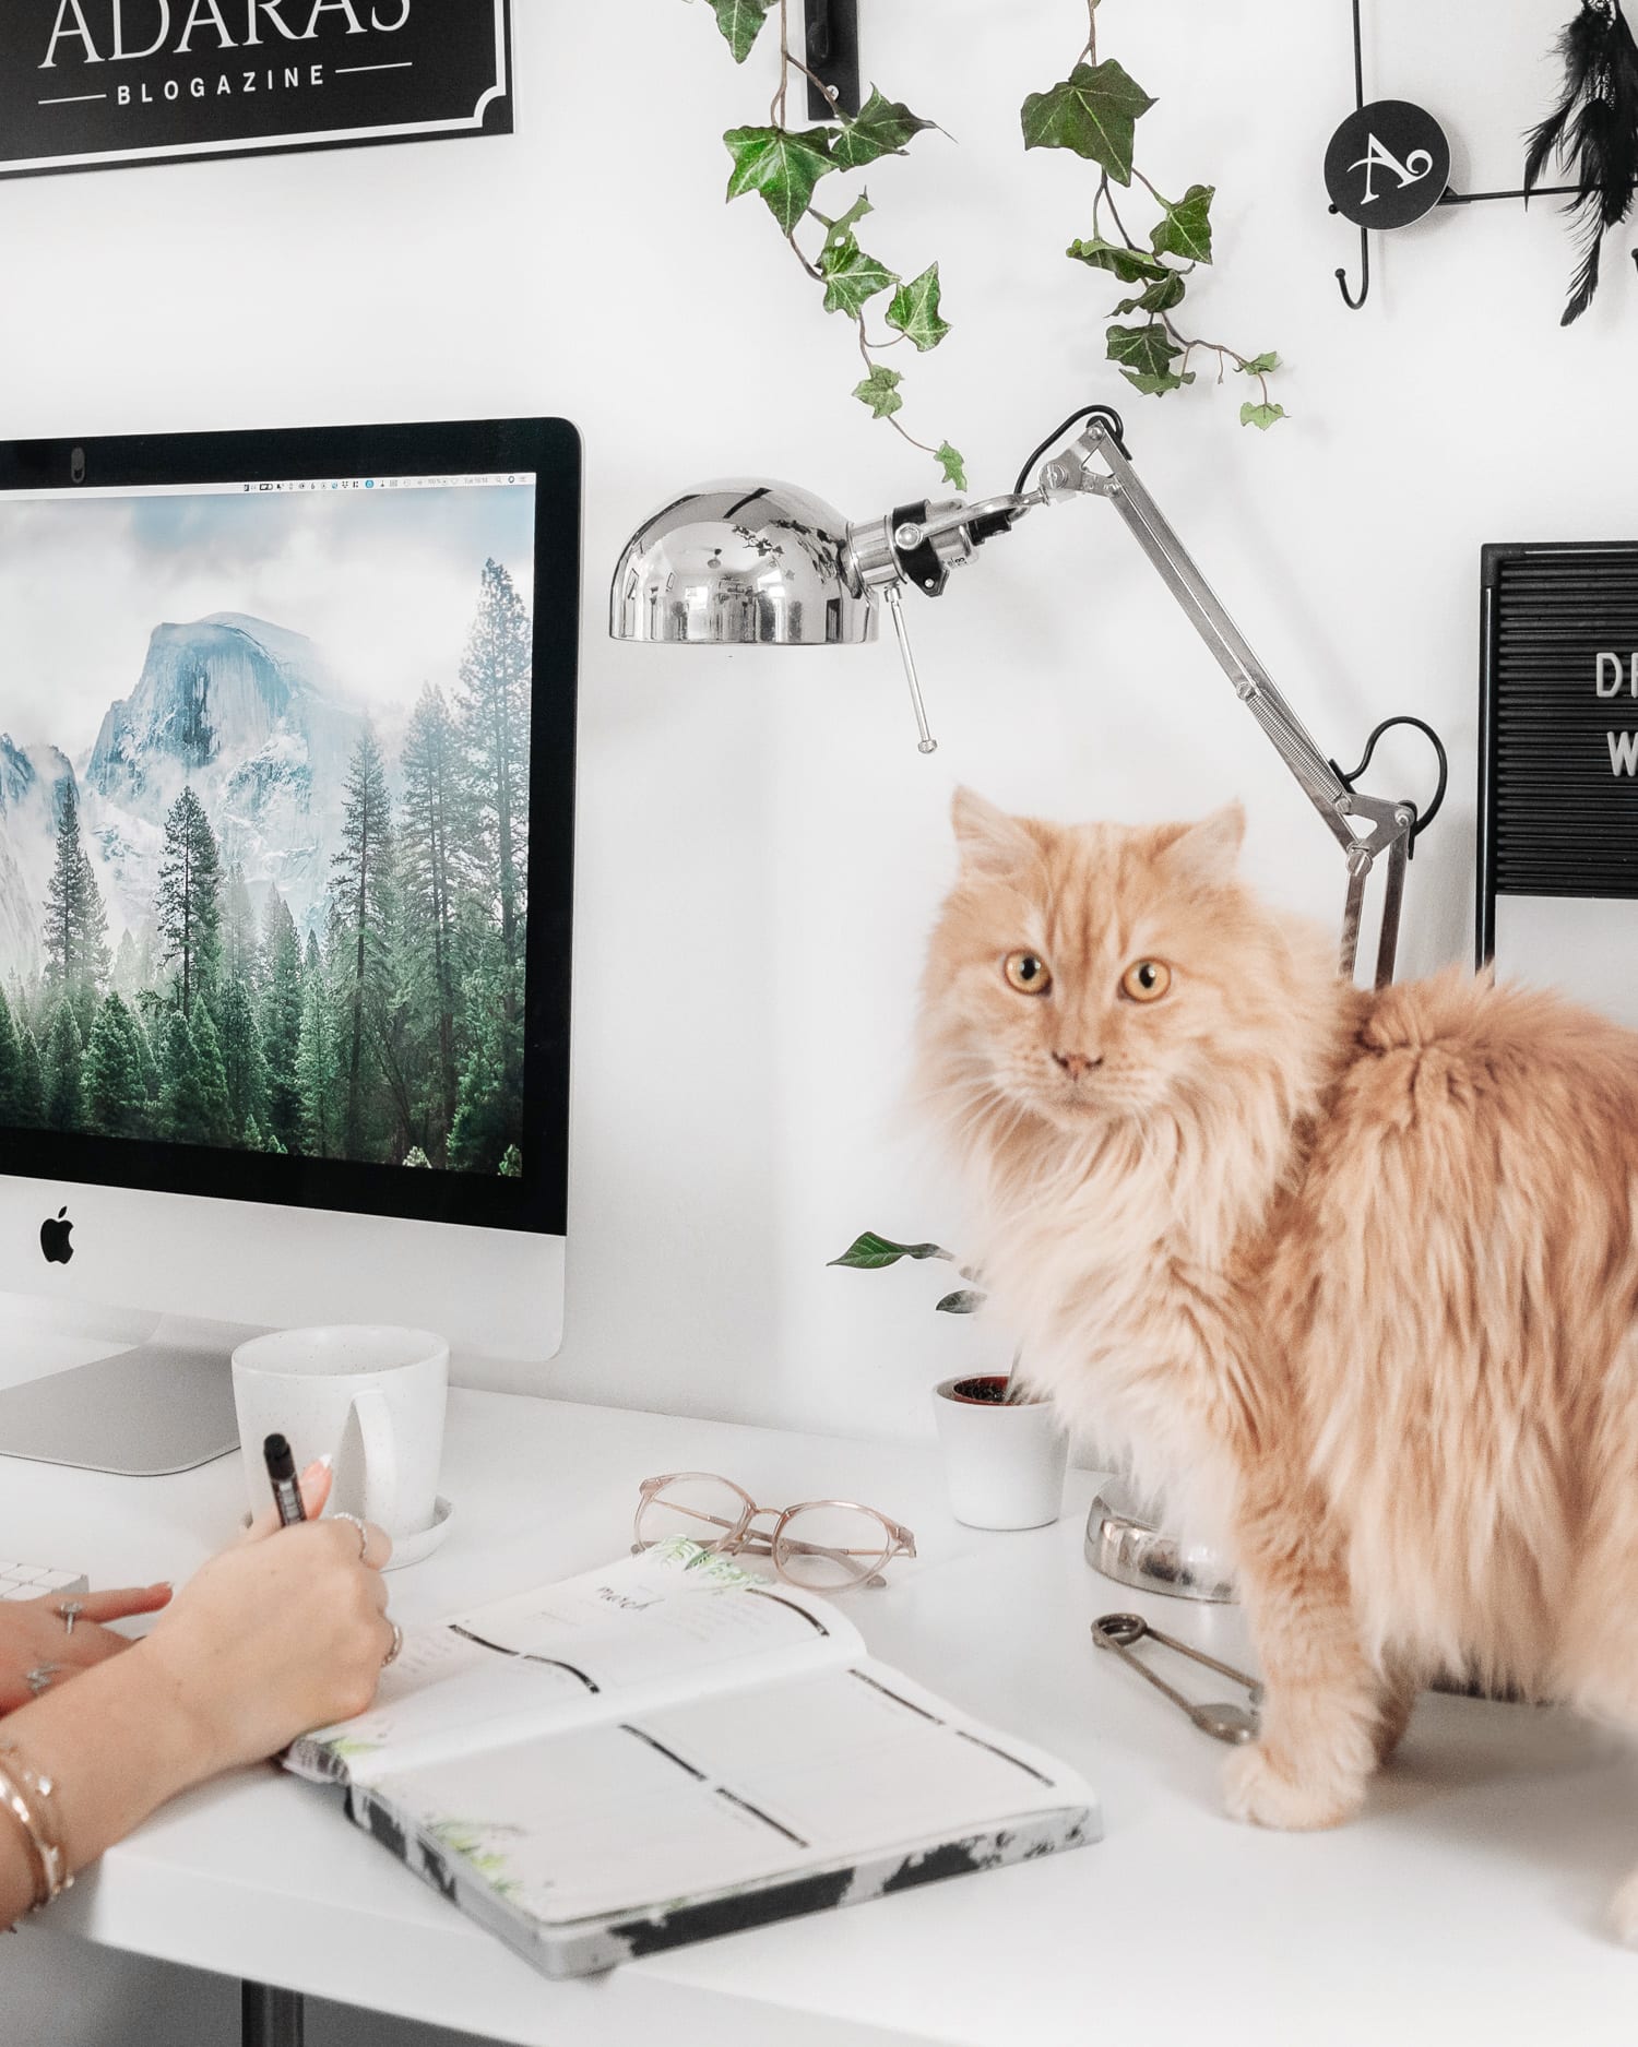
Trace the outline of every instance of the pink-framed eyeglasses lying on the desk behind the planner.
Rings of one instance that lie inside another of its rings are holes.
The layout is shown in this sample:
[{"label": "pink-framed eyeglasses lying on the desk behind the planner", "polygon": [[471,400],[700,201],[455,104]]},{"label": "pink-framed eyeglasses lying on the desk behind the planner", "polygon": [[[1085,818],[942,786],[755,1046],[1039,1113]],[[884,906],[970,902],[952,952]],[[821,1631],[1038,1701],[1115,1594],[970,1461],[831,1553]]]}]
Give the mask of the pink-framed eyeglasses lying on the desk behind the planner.
[{"label": "pink-framed eyeglasses lying on the desk behind the planner", "polygon": [[[758,1515],[776,1515],[756,1529]],[[854,1584],[885,1584],[895,1556],[915,1556],[907,1527],[854,1500],[803,1500],[799,1507],[758,1507],[731,1478],[715,1472],[665,1472],[645,1478],[637,1496],[633,1552],[682,1535],[723,1556],[766,1556],[790,1584],[809,1593],[846,1593]]]}]

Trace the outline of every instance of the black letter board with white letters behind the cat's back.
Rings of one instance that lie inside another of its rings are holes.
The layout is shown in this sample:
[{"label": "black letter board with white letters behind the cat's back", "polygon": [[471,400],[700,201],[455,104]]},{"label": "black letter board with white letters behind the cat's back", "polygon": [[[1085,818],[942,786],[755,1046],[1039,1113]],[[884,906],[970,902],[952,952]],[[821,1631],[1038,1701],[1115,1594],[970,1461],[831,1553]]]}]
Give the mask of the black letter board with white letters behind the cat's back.
[{"label": "black letter board with white letters behind the cat's back", "polygon": [[1638,897],[1638,542],[1486,547],[1478,964],[1497,897]]}]

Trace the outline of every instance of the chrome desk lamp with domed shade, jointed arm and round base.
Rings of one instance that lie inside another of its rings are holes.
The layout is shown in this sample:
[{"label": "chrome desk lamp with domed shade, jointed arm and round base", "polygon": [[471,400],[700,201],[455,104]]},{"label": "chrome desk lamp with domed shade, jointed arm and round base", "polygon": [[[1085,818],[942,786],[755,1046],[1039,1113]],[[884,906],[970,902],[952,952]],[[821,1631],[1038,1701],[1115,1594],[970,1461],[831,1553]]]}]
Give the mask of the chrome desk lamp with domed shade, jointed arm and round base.
[{"label": "chrome desk lamp with domed shade, jointed arm and round base", "polygon": [[[1085,422],[1085,424],[1083,424]],[[1063,436],[1081,432],[1030,473]],[[923,753],[936,749],[921,702],[903,598],[944,594],[950,575],[977,551],[1044,506],[1102,497],[1181,606],[1235,694],[1319,811],[1347,862],[1341,972],[1351,981],[1360,954],[1366,884],[1386,860],[1376,987],[1394,974],[1405,899],[1405,864],[1446,792],[1446,753],[1421,718],[1386,718],[1366,755],[1343,772],[1314,745],[1274,686],[1245,635],[1212,594],[1194,557],[1171,530],[1132,469],[1120,416],[1108,405],[1073,413],[1024,465],[1001,497],[979,504],[905,504],[887,518],[850,524],[821,497],[788,483],[708,483],[672,497],[627,542],[610,592],[610,633],[622,641],[686,647],[858,647],[876,637],[887,606],[909,684]],[[1392,725],[1415,725],[1439,757],[1439,786],[1425,817],[1405,798],[1366,796],[1353,784],[1370,768],[1376,741]],[[1114,1492],[1114,1488],[1110,1488]],[[1087,1556],[1108,1576],[1192,1599],[1231,1599],[1220,1564],[1153,1527],[1140,1502],[1100,1496],[1087,1525]]]}]

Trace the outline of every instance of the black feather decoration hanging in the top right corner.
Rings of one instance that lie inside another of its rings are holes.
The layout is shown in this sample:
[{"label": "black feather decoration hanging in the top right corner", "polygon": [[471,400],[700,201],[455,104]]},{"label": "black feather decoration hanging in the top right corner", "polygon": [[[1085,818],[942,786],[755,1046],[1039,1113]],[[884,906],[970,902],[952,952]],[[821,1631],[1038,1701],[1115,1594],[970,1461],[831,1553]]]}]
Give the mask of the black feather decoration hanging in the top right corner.
[{"label": "black feather decoration hanging in the top right corner", "polygon": [[1562,325],[1568,328],[1593,303],[1603,237],[1628,217],[1638,186],[1638,43],[1622,0],[1581,0],[1581,14],[1558,39],[1558,53],[1564,98],[1529,131],[1523,188],[1529,199],[1554,154],[1575,178],[1575,199],[1564,211],[1577,215],[1583,250],[1564,307]]}]

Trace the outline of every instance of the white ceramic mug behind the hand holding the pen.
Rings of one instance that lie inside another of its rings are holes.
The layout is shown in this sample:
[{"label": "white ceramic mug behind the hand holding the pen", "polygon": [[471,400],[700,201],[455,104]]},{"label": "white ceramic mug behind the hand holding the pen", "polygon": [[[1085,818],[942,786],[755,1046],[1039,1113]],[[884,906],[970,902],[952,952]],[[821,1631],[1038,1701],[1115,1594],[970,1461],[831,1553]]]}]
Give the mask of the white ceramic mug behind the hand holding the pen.
[{"label": "white ceramic mug behind the hand holding the pen", "polygon": [[426,1329],[276,1329],[233,1351],[233,1406],[252,1513],[268,1505],[262,1445],[289,1437],[297,1472],[330,1455],[328,1513],[395,1541],[432,1525],[444,1453],[448,1345]]}]

